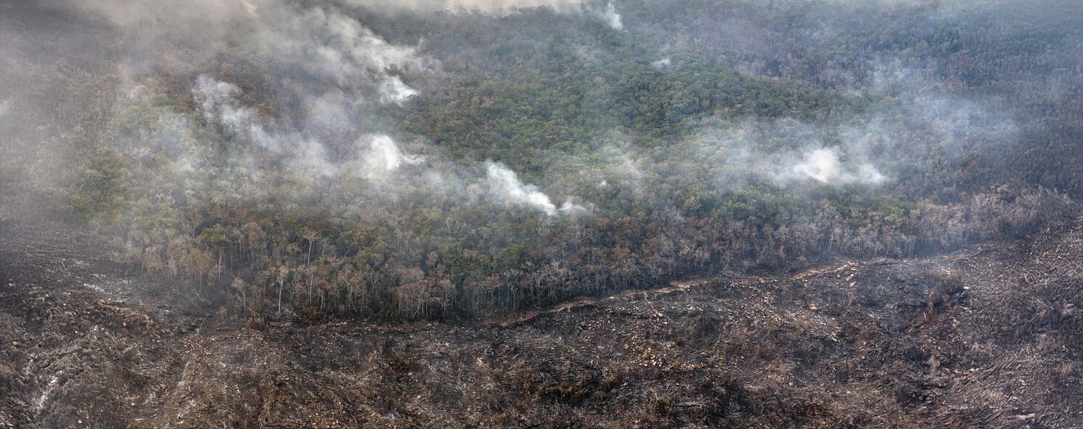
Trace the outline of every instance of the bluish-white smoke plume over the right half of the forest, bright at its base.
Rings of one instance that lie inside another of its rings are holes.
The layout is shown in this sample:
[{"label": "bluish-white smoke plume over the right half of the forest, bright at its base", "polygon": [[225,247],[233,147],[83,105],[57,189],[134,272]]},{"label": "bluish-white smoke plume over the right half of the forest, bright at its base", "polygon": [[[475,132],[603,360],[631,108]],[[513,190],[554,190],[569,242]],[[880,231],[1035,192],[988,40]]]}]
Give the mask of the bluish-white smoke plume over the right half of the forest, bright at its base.
[{"label": "bluish-white smoke plume over the right half of the forest, bright at its base", "polygon": [[901,182],[915,168],[953,165],[965,154],[1007,151],[1018,141],[1019,127],[1001,100],[964,98],[930,72],[903,66],[899,60],[877,58],[869,70],[871,81],[849,96],[884,102],[865,112],[835,121],[704,122],[692,142],[695,147],[677,145],[670,153],[688,171],[717,180],[723,190],[765,179],[787,187],[876,187],[905,186]]}]

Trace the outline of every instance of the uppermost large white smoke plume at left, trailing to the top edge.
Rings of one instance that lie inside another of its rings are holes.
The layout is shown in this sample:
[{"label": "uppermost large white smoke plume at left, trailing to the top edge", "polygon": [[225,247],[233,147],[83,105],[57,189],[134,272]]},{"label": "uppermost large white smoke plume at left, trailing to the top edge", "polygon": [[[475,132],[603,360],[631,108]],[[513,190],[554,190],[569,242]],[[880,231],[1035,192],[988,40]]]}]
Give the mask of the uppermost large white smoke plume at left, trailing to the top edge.
[{"label": "uppermost large white smoke plume at left, trailing to the top edge", "polygon": [[[198,70],[220,52],[290,74],[310,96],[329,88],[352,101],[370,95],[401,104],[417,94],[399,76],[428,69],[417,49],[388,43],[332,5],[298,5],[287,0],[87,0],[76,2],[105,15],[129,36],[127,64],[139,72]],[[162,54],[167,52],[168,54]],[[297,69],[304,72],[298,76]],[[324,88],[314,90],[312,86]]]}]

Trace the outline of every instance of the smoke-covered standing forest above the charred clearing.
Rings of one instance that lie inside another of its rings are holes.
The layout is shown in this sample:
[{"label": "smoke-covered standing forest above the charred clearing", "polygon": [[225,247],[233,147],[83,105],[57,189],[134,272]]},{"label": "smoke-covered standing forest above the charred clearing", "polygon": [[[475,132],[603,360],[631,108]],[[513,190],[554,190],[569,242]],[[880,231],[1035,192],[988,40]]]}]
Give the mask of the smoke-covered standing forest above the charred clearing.
[{"label": "smoke-covered standing forest above the charred clearing", "polygon": [[918,256],[1083,192],[1083,3],[0,3],[0,181],[257,322]]}]

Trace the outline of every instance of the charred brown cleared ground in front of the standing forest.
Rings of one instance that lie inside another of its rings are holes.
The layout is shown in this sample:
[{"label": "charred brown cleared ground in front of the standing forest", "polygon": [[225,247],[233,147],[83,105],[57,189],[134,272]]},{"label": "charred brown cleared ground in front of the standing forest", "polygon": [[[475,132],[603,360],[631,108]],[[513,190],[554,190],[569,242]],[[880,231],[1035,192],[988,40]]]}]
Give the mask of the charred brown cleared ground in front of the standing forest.
[{"label": "charred brown cleared ground in front of the standing forest", "polygon": [[253,328],[0,217],[0,428],[1079,428],[1083,223],[503,321]]}]

